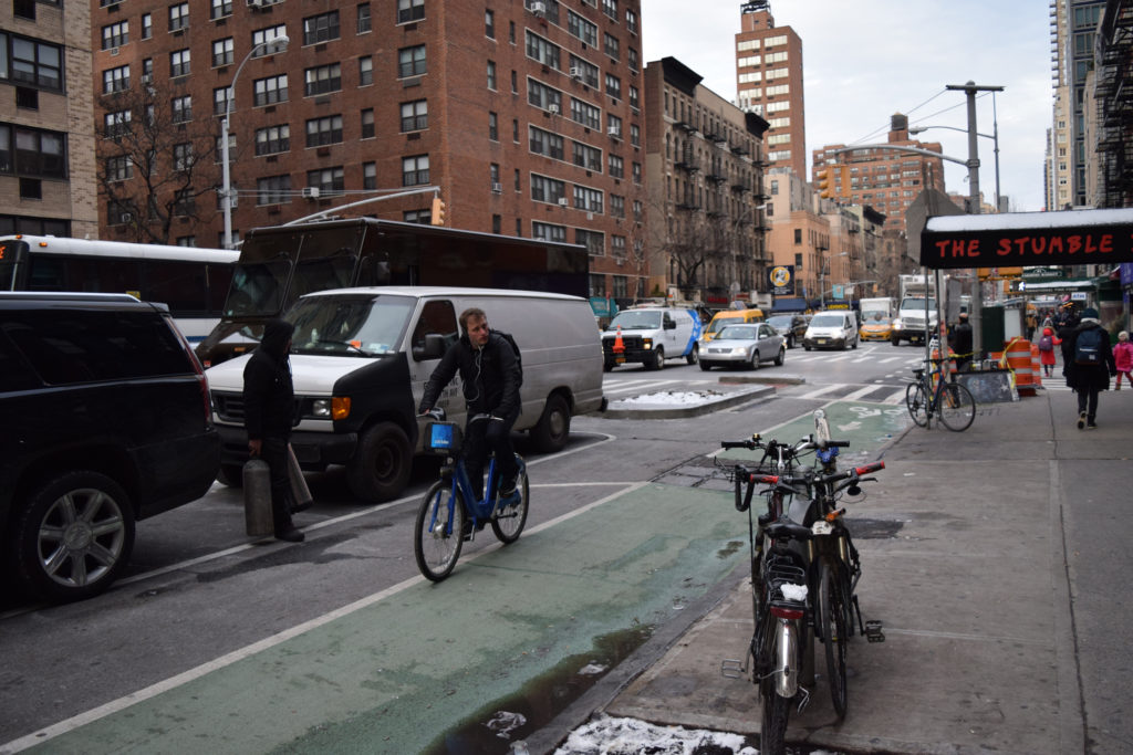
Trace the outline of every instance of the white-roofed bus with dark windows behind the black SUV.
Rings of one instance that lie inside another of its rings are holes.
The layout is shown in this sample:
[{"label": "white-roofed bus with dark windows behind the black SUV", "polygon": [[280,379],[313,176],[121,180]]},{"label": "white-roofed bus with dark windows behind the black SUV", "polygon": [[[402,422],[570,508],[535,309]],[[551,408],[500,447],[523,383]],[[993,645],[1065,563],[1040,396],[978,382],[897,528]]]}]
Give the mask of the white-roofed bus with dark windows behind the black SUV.
[{"label": "white-roofed bus with dark windows behind the black SUV", "polygon": [[169,307],[193,343],[220,321],[240,252],[53,235],[0,237],[0,291],[129,293]]}]

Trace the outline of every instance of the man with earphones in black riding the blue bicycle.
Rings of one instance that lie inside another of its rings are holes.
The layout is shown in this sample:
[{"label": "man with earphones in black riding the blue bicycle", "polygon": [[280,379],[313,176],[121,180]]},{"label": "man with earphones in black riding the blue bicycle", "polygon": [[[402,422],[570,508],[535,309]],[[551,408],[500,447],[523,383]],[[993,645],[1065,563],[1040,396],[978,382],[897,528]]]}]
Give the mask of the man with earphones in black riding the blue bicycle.
[{"label": "man with earphones in black riding the blue bicycle", "polygon": [[[418,412],[425,414],[432,410],[441,391],[459,371],[468,411],[463,445],[468,479],[477,498],[483,498],[484,463],[488,451],[495,452],[500,495],[506,498],[516,492],[519,473],[511,447],[511,427],[521,407],[519,362],[511,343],[488,328],[484,310],[466,309],[460,314],[460,327],[465,334],[449,348],[429,376]],[[489,414],[491,419],[472,422],[476,414]]]}]

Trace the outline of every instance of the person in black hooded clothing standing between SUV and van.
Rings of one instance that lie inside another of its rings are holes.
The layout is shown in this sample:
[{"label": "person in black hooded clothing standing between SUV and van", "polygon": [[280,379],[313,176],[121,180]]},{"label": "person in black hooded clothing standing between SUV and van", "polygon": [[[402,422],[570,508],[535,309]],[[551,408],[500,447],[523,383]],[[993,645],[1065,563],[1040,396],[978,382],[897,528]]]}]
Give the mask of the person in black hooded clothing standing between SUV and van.
[{"label": "person in black hooded clothing standing between SUV and van", "polygon": [[284,319],[264,326],[259,348],[244,367],[244,427],[248,432],[248,454],[263,458],[271,469],[275,537],[303,542],[303,532],[291,522],[291,482],[287,469],[288,440],[295,424],[295,388],[288,360],[293,332],[295,326]]}]

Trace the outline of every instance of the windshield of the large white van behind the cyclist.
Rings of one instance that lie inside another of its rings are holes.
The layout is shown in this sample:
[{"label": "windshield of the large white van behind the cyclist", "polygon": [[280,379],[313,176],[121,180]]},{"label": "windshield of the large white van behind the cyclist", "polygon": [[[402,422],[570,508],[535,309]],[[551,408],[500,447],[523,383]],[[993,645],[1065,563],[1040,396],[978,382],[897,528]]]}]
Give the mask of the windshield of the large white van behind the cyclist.
[{"label": "windshield of the large white van behind the cyclist", "polygon": [[381,357],[401,343],[416,300],[386,294],[300,299],[288,312],[295,324],[291,352]]}]

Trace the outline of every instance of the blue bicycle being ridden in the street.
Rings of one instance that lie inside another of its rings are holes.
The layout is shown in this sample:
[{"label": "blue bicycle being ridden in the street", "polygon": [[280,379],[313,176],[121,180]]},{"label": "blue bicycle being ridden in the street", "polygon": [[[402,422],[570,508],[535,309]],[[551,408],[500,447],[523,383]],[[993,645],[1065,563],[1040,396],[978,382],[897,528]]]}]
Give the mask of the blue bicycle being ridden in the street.
[{"label": "blue bicycle being ridden in the street", "polygon": [[[492,532],[504,544],[519,539],[527,523],[530,487],[527,464],[519,454],[516,463],[516,492],[500,496],[496,460],[488,463],[484,498],[477,498],[460,455],[461,431],[454,422],[445,422],[444,412],[429,413],[435,421],[425,427],[425,448],[448,458],[441,467],[441,479],[429,487],[417,511],[414,526],[414,555],[417,568],[426,578],[441,582],[452,573],[466,541],[491,523]],[[487,421],[488,414],[476,414],[469,422]]]}]

